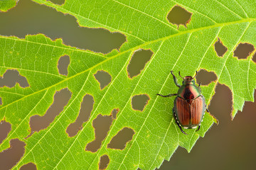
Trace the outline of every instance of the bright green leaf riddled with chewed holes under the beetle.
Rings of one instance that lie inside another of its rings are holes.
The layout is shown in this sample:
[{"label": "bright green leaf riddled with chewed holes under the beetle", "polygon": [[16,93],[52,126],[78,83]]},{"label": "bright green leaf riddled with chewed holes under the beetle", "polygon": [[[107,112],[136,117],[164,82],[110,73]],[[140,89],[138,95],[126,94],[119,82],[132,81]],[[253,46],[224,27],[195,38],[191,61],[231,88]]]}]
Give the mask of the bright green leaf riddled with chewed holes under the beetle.
[{"label": "bright green leaf riddled with chewed holes under the beetle", "polygon": [[[245,101],[253,101],[256,64],[252,55],[238,60],[233,51],[240,42],[256,45],[255,1],[66,0],[63,6],[33,1],[75,16],[80,26],[119,31],[127,36],[127,42],[119,52],[113,50],[102,55],[63,45],[62,40],[53,41],[41,34],[27,35],[25,39],[0,36],[0,74],[17,69],[30,85],[0,89],[0,118],[11,123],[11,132],[0,144],[0,150],[8,148],[14,138],[26,142],[26,151],[14,169],[28,162],[38,169],[98,169],[104,154],[110,157],[107,169],[155,169],[164,159],[169,160],[178,146],[190,152],[198,137],[203,137],[213,125],[214,118],[206,113],[201,130],[186,130],[188,135],[181,133],[171,114],[174,98],[156,96],[178,90],[171,70],[183,75],[193,75],[199,69],[215,72],[218,80],[202,86],[203,96],[209,104],[216,84],[227,85],[233,93],[233,117],[242,111]],[[166,19],[176,4],[193,13],[187,28],[177,29]],[[223,57],[218,57],[214,50],[218,38],[228,47]],[[154,55],[142,72],[130,79],[127,64],[140,48],[150,49]],[[63,55],[70,56],[68,77],[58,74],[58,60]],[[94,77],[98,70],[112,77],[102,90]],[[31,130],[31,116],[44,115],[53,103],[55,91],[67,87],[72,96],[64,110],[48,128],[26,138]],[[92,95],[95,101],[90,119],[78,135],[68,137],[65,130],[78,117],[85,94]],[[131,106],[132,96],[139,94],[150,98],[142,112]],[[86,145],[95,140],[92,121],[99,114],[110,115],[114,108],[119,108],[117,119],[100,149],[95,153],[85,151]],[[107,148],[112,137],[124,127],[135,132],[125,149]]]}]

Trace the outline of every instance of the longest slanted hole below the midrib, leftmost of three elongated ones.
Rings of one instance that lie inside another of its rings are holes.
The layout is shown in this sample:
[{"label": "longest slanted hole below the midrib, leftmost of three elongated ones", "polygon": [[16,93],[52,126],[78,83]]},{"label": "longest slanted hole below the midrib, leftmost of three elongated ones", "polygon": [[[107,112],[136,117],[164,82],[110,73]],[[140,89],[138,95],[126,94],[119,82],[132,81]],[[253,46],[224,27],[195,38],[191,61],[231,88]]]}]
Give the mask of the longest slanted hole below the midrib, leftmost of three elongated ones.
[{"label": "longest slanted hole below the midrib, leftmost of three elongated ones", "polygon": [[33,135],[33,132],[39,132],[40,130],[46,129],[50,123],[53,122],[55,117],[63,111],[63,108],[68,104],[68,101],[71,98],[71,94],[72,93],[68,88],[56,91],[53,104],[48,108],[46,114],[43,116],[33,115],[30,118],[29,125],[31,127],[31,134],[28,135],[28,137]]}]

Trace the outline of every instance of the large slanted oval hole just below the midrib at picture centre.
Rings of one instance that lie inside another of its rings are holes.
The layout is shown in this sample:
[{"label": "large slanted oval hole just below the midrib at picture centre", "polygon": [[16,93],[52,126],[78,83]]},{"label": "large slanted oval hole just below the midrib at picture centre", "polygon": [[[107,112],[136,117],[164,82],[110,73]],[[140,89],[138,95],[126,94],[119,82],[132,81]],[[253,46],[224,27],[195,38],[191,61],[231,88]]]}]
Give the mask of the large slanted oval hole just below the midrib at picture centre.
[{"label": "large slanted oval hole just below the midrib at picture centre", "polygon": [[128,77],[133,78],[139,75],[144,69],[146,62],[149,62],[154,52],[144,49],[134,51],[131,60],[127,66]]}]

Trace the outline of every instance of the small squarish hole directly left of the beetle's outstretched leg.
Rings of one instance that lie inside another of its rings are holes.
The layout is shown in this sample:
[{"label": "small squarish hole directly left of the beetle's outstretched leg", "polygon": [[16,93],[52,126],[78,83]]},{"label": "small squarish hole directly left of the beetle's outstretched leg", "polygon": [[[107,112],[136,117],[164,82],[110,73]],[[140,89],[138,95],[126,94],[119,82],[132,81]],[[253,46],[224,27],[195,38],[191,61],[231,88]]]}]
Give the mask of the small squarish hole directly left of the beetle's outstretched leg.
[{"label": "small squarish hole directly left of the beetle's outstretched leg", "polygon": [[132,97],[132,108],[137,111],[143,111],[149,101],[149,96],[146,94],[139,94]]}]

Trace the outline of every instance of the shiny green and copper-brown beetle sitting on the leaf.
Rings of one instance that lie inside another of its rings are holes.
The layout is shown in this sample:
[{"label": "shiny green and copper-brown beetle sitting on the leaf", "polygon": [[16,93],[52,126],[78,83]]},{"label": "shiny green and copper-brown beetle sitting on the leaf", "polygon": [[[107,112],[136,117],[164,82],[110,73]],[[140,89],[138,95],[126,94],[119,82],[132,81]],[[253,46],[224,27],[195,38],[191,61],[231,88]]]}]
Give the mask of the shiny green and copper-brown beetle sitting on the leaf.
[{"label": "shiny green and copper-brown beetle sitting on the leaf", "polygon": [[178,72],[179,76],[183,79],[182,85],[178,84],[178,80],[173,71],[171,71],[171,74],[174,77],[174,84],[179,88],[178,93],[166,96],[161,94],[156,95],[162,97],[176,96],[172,112],[178,128],[183,132],[183,134],[188,135],[181,127],[185,129],[194,129],[198,127],[196,131],[200,129],[204,113],[206,111],[209,112],[208,108],[206,108],[206,99],[201,94],[201,83],[196,86],[194,80],[197,75],[197,71],[194,77],[186,76],[184,78],[181,77],[181,72]]}]

